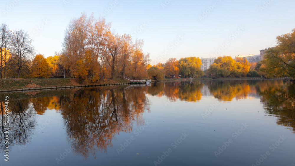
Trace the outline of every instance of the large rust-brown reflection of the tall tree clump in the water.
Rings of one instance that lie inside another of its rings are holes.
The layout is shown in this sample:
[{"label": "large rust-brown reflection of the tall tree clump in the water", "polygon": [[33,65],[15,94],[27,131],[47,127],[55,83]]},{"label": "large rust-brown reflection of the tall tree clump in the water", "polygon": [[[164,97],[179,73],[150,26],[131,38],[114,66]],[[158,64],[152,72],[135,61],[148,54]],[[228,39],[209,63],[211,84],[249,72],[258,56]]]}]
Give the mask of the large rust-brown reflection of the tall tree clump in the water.
[{"label": "large rust-brown reflection of the tall tree clump in the water", "polygon": [[145,89],[140,87],[85,88],[60,97],[67,140],[74,153],[95,156],[106,153],[120,132],[131,132],[133,123],[143,125],[142,114],[150,111]]}]

